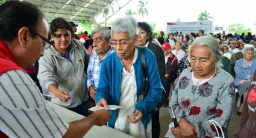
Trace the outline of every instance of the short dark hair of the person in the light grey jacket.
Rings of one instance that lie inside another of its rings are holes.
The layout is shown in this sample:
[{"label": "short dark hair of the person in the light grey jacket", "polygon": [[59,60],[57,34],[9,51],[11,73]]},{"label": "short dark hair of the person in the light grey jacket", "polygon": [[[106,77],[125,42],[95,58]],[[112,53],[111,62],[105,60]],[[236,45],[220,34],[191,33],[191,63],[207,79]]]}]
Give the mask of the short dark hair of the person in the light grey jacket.
[{"label": "short dark hair of the person in the light grey jacket", "polygon": [[61,17],[53,19],[52,22],[50,23],[51,34],[54,34],[54,32],[57,32],[58,29],[67,29],[70,31],[70,28],[71,26],[69,25],[69,22],[67,22],[65,19]]}]

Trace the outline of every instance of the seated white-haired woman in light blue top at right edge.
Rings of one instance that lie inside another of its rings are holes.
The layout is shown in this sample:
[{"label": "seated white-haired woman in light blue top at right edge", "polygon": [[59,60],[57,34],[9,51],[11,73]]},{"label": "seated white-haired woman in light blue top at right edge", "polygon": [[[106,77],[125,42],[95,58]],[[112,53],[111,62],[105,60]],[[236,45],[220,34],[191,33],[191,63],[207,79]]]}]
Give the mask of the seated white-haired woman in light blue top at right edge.
[{"label": "seated white-haired woman in light blue top at right edge", "polygon": [[[251,77],[256,70],[256,59],[254,59],[254,47],[245,47],[242,49],[243,58],[236,61],[234,70],[236,73],[236,86],[240,96],[243,95],[244,99],[247,95],[246,89],[251,82]],[[240,106],[238,115],[241,115],[243,104]]]}]

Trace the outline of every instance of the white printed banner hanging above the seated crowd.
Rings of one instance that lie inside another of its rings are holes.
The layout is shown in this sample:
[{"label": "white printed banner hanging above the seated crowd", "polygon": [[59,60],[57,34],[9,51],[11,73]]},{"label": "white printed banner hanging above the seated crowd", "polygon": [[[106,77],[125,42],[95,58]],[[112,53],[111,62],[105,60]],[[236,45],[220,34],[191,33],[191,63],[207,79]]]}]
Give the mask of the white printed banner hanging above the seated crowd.
[{"label": "white printed banner hanging above the seated crowd", "polygon": [[189,33],[198,32],[198,30],[203,30],[204,34],[210,34],[212,32],[213,22],[211,21],[201,21],[201,22],[167,22],[166,33],[170,32],[183,32]]}]

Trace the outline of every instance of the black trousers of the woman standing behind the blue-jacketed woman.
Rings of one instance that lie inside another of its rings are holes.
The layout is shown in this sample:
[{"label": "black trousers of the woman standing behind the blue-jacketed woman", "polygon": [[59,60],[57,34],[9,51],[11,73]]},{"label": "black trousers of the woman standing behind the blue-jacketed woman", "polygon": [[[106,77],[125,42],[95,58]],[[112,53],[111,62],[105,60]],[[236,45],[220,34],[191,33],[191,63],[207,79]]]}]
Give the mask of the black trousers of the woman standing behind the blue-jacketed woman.
[{"label": "black trousers of the woman standing behind the blue-jacketed woman", "polygon": [[158,138],[160,136],[160,122],[159,122],[159,110],[151,113],[152,121],[152,138]]}]

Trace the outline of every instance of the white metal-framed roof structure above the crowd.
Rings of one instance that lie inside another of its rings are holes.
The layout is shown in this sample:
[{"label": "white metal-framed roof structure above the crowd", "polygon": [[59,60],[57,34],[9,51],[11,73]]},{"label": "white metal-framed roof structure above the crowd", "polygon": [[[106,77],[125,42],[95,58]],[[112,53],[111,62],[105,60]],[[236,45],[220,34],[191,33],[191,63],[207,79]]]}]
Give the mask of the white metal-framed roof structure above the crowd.
[{"label": "white metal-framed roof structure above the crowd", "polygon": [[[7,0],[0,0],[3,4]],[[73,20],[76,23],[87,23],[89,25],[101,25],[131,0],[23,0],[37,5],[46,20],[51,22],[56,17],[63,17],[67,21]],[[125,4],[123,4],[125,1]],[[122,5],[120,5],[122,4]],[[111,10],[111,14],[110,14]],[[96,23],[95,17],[99,14],[107,14],[106,20]]]}]

